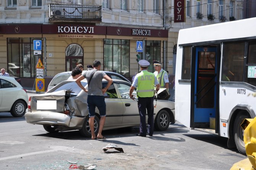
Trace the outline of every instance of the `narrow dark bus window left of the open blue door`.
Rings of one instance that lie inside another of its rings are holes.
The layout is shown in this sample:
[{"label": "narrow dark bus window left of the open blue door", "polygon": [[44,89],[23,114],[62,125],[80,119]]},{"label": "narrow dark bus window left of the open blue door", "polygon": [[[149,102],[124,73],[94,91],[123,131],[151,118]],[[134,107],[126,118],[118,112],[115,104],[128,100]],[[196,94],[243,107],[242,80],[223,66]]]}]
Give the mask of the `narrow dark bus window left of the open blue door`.
[{"label": "narrow dark bus window left of the open blue door", "polygon": [[183,47],[183,57],[182,57],[182,72],[181,79],[190,80],[191,79],[191,58],[192,58],[192,47]]}]

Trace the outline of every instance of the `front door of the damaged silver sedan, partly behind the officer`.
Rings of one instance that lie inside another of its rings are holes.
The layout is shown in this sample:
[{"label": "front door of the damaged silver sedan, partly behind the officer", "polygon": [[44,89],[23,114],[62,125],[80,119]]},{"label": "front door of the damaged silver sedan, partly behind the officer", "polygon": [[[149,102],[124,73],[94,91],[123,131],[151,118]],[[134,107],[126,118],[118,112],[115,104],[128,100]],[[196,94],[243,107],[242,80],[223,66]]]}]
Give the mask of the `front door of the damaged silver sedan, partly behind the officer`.
[{"label": "front door of the damaged silver sedan, partly behind the officer", "polygon": [[[139,110],[137,97],[135,100],[130,99],[129,90],[131,87],[130,83],[120,82],[115,84],[119,97],[123,104],[123,121],[122,125],[139,125]],[[134,90],[133,95],[136,96],[136,91]]]}]

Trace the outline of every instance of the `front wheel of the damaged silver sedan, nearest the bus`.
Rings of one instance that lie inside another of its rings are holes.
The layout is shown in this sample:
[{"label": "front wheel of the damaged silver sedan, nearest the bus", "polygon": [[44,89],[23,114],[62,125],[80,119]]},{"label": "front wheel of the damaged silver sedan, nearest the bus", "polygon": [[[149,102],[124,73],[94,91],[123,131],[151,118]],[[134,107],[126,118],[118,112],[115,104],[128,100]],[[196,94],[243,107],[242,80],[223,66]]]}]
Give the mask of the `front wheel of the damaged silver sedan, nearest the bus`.
[{"label": "front wheel of the damaged silver sedan, nearest the bus", "polygon": [[164,131],[167,130],[170,124],[170,115],[166,110],[161,110],[155,119],[156,130]]}]

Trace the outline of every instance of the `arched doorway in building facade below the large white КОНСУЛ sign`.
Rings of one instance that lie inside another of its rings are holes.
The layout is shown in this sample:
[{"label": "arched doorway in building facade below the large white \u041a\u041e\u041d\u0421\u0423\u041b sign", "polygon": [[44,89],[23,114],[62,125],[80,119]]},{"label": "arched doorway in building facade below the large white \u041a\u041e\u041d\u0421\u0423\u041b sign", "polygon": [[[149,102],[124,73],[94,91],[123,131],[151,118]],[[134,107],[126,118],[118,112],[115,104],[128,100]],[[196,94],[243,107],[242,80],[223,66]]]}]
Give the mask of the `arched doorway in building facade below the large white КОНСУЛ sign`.
[{"label": "arched doorway in building facade below the large white \u041a\u041e\u041d\u0421\u0423\u041b sign", "polygon": [[72,71],[76,65],[84,65],[83,49],[78,44],[70,44],[66,48],[66,71]]}]

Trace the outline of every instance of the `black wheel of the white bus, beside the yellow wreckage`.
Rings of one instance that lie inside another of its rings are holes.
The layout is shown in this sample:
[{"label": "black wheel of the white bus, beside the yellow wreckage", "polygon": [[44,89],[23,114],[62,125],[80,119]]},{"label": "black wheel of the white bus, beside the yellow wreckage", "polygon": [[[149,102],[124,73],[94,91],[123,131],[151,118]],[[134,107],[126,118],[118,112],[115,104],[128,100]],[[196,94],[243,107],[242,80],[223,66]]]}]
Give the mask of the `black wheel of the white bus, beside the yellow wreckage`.
[{"label": "black wheel of the white bus, beside the yellow wreckage", "polygon": [[234,128],[233,128],[235,144],[237,146],[238,151],[243,155],[246,155],[245,143],[243,141],[244,130],[241,128],[240,125],[245,118],[248,118],[246,114],[244,113],[238,114],[238,116],[235,119]]}]

